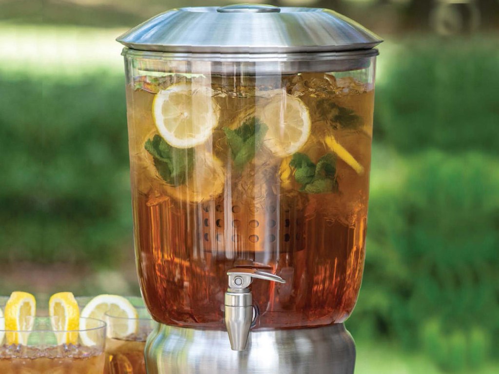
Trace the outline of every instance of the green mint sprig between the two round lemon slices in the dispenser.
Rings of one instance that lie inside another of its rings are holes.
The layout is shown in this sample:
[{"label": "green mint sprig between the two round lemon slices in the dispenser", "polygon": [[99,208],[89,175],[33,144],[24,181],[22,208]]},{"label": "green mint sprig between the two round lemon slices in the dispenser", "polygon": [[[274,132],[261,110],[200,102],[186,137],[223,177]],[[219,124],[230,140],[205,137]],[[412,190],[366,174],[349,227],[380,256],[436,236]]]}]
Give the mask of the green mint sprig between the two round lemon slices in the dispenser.
[{"label": "green mint sprig between the two round lemon slices in the dispenser", "polygon": [[234,166],[243,170],[245,165],[254,159],[256,151],[263,144],[267,126],[256,117],[251,117],[235,130],[224,127],[224,132],[231,148]]}]

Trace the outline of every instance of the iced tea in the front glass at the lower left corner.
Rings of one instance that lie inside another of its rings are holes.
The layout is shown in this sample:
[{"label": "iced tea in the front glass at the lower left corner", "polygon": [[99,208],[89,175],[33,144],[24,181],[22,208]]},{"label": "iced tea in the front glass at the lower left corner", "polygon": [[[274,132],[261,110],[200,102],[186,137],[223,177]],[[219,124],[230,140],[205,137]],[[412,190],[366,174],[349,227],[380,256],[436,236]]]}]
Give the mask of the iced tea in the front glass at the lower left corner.
[{"label": "iced tea in the front glass at the lower left corner", "polygon": [[102,374],[104,370],[104,353],[91,348],[75,349],[64,354],[56,349],[26,348],[23,351],[19,354],[13,346],[0,347],[0,373]]}]

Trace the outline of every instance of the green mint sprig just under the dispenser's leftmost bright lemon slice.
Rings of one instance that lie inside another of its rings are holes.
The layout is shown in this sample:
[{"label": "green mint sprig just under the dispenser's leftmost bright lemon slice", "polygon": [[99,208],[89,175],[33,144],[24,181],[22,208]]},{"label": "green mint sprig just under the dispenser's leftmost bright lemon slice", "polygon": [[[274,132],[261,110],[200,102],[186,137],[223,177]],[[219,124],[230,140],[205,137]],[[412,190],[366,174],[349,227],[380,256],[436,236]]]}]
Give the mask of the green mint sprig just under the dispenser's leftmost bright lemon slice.
[{"label": "green mint sprig just under the dispenser's leftmost bright lemon slice", "polygon": [[194,148],[175,148],[161,136],[155,135],[144,144],[153,157],[154,167],[169,185],[185,185],[194,168]]}]

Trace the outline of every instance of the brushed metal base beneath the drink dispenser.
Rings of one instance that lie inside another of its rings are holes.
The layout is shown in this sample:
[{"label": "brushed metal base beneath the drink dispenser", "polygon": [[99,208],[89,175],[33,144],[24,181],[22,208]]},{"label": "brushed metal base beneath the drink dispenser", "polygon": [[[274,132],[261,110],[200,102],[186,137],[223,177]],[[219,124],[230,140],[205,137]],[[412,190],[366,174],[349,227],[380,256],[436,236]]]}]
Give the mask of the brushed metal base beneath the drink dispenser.
[{"label": "brushed metal base beneath the drink dispenser", "polygon": [[148,374],[353,374],[355,344],[336,324],[251,332],[237,352],[225,331],[158,325],[145,356]]}]

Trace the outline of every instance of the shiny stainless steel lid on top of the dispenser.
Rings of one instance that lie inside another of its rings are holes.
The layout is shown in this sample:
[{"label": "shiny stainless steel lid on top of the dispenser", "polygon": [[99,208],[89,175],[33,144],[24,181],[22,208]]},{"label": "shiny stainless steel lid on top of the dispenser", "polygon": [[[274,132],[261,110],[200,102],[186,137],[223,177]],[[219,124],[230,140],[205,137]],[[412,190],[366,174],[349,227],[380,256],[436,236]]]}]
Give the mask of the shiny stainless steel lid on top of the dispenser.
[{"label": "shiny stainless steel lid on top of the dispenser", "polygon": [[185,53],[344,52],[382,42],[329,9],[258,4],[172,9],[116,40],[137,50]]}]

